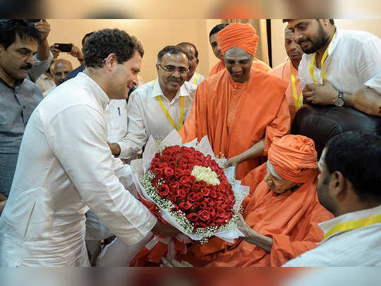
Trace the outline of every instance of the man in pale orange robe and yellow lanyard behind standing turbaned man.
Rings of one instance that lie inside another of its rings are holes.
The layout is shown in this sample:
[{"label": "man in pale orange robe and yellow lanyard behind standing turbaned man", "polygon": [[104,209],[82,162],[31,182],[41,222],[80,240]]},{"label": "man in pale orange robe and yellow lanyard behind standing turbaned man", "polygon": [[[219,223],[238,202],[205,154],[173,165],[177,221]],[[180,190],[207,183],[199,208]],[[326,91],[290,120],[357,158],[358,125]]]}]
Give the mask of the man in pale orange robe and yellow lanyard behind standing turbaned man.
[{"label": "man in pale orange robe and yellow lanyard behind standing turbaned man", "polygon": [[303,102],[303,97],[301,97],[301,82],[298,77],[298,67],[303,56],[303,50],[301,46],[295,42],[294,34],[289,30],[288,26],[284,30],[284,48],[286,49],[287,56],[289,56],[289,60],[273,68],[269,73],[289,82],[286,97],[287,102],[289,102],[292,121]]}]

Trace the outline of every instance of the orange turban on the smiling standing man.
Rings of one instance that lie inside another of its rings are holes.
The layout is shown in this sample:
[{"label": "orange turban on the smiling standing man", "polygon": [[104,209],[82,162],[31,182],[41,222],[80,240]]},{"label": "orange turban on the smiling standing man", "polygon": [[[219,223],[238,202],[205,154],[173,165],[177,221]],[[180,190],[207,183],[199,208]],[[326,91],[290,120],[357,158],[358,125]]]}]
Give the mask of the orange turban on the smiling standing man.
[{"label": "orange turban on the smiling standing man", "polygon": [[248,23],[230,24],[217,34],[217,42],[223,55],[228,49],[238,47],[254,56],[258,40],[259,36],[256,34],[255,29]]}]

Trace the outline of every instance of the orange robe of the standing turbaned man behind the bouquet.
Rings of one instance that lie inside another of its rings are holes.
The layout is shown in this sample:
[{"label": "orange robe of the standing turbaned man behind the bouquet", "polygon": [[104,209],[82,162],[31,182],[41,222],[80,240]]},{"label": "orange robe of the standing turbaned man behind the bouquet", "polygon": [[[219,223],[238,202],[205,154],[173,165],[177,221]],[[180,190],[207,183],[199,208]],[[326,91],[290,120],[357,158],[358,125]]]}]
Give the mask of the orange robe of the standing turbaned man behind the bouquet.
[{"label": "orange robe of the standing turbaned man behind the bouquet", "polygon": [[[191,114],[179,132],[183,143],[207,135],[214,155],[229,159],[265,138],[266,156],[272,139],[290,129],[286,88],[285,81],[255,68],[246,83],[234,82],[226,69],[206,78],[198,85]],[[236,178],[259,165],[259,157],[242,162]]]}]

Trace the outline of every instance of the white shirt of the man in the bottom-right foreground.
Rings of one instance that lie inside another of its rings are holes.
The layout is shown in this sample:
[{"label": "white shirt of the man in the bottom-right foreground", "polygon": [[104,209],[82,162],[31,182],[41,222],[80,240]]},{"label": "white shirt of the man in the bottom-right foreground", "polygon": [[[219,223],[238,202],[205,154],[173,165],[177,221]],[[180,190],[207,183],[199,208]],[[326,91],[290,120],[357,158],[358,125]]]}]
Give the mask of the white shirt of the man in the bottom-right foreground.
[{"label": "white shirt of the man in the bottom-right foreground", "polygon": [[[381,214],[381,205],[320,222],[324,234],[337,225]],[[317,248],[290,260],[287,267],[381,266],[381,222],[353,230],[333,232]]]}]

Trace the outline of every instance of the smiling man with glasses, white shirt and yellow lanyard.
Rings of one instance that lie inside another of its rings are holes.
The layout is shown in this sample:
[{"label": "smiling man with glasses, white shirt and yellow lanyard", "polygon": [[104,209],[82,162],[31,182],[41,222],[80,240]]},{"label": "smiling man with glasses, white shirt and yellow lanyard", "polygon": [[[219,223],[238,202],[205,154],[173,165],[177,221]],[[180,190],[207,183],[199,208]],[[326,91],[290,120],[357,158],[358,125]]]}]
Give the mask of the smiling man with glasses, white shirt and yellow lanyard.
[{"label": "smiling man with glasses, white shirt and yellow lanyard", "polygon": [[129,159],[150,136],[163,139],[173,129],[179,131],[191,112],[197,85],[186,82],[188,58],[176,46],[167,46],[157,55],[157,75],[130,96],[127,105],[128,133],[117,143],[109,143],[116,157]]}]

